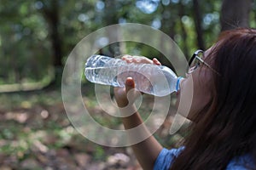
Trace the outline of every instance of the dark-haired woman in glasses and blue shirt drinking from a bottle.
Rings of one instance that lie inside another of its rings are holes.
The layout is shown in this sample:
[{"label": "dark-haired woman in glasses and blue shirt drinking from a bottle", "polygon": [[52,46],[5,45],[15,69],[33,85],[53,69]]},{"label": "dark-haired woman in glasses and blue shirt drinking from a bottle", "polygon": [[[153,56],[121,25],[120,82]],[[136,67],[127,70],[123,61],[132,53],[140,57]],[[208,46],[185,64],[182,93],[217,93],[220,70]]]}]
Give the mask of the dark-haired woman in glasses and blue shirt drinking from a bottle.
[{"label": "dark-haired woman in glasses and blue shirt drinking from a bottle", "polygon": [[[124,59],[160,65],[157,59]],[[256,169],[256,31],[225,31],[212,48],[197,51],[189,65],[177,92],[181,114],[186,100],[192,99],[189,137],[183,147],[172,150],[153,136],[132,145],[143,169]],[[186,95],[191,84],[193,97]],[[142,120],[133,105],[137,92],[131,77],[125,85],[115,89],[115,98],[124,114],[134,112],[123,118],[129,129]]]}]

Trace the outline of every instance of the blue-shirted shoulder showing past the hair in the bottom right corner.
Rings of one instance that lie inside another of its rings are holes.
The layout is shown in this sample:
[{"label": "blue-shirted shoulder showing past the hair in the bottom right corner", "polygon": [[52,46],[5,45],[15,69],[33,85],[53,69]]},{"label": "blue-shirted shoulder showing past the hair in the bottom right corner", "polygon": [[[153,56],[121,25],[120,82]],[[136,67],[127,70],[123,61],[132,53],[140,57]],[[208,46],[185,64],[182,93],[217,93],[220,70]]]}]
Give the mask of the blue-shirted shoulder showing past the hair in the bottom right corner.
[{"label": "blue-shirted shoulder showing past the hair in the bottom right corner", "polygon": [[255,161],[253,160],[253,156],[247,154],[244,156],[237,156],[233,158],[228,167],[227,170],[250,170],[250,169],[256,169]]}]

